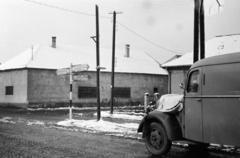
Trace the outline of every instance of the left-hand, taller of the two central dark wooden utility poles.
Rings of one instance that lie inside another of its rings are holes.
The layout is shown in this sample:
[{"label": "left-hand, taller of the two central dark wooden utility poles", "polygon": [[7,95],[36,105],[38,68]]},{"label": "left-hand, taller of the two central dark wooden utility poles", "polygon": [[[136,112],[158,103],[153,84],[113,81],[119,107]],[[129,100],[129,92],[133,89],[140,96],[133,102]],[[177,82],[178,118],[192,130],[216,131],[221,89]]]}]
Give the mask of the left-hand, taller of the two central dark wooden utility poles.
[{"label": "left-hand, taller of the two central dark wooden utility poles", "polygon": [[98,6],[95,6],[96,9],[96,63],[97,63],[97,120],[101,118],[101,105],[100,105],[100,62],[99,62],[99,15],[98,15]]}]

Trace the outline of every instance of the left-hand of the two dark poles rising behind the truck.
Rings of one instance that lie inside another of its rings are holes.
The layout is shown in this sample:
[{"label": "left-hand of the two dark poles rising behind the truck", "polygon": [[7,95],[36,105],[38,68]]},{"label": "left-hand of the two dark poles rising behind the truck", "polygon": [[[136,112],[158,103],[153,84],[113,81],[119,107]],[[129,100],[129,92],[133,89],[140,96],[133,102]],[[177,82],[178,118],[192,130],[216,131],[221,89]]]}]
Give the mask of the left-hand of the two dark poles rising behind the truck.
[{"label": "left-hand of the two dark poles rising behind the truck", "polygon": [[193,63],[198,61],[199,52],[199,13],[200,0],[194,0],[194,36],[193,36]]}]

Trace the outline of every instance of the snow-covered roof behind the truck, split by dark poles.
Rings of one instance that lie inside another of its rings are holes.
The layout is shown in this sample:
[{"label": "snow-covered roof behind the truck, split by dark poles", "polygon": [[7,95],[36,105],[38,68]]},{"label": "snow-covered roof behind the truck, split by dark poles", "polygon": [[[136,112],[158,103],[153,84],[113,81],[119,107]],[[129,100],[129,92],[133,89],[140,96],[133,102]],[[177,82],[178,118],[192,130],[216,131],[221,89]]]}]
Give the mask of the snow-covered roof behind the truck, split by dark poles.
[{"label": "snow-covered roof behind the truck, split by dark poles", "polygon": [[[240,34],[216,36],[206,42],[206,57],[229,54],[240,51]],[[193,52],[167,62],[162,67],[191,66],[193,64]]]}]

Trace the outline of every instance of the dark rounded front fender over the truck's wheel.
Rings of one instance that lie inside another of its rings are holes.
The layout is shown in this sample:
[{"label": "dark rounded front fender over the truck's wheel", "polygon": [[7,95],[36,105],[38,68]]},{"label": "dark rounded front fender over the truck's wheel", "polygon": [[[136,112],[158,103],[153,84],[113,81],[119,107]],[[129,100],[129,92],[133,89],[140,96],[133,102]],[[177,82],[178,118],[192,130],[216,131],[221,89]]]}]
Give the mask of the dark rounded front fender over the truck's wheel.
[{"label": "dark rounded front fender over the truck's wheel", "polygon": [[150,112],[142,119],[138,127],[138,132],[143,132],[143,137],[145,136],[144,132],[149,129],[151,122],[161,123],[170,140],[178,140],[182,138],[181,126],[174,114],[163,113],[156,110]]}]

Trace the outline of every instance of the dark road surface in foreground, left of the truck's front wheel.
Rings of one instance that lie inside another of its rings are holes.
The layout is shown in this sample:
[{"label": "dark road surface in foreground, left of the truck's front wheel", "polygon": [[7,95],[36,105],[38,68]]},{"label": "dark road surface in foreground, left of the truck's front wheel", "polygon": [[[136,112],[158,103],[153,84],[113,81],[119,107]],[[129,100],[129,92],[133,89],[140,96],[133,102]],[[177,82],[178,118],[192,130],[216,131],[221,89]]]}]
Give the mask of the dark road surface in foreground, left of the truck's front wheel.
[{"label": "dark road surface in foreground, left of the truck's front wheel", "polygon": [[0,124],[0,157],[147,157],[139,141],[61,129]]}]

